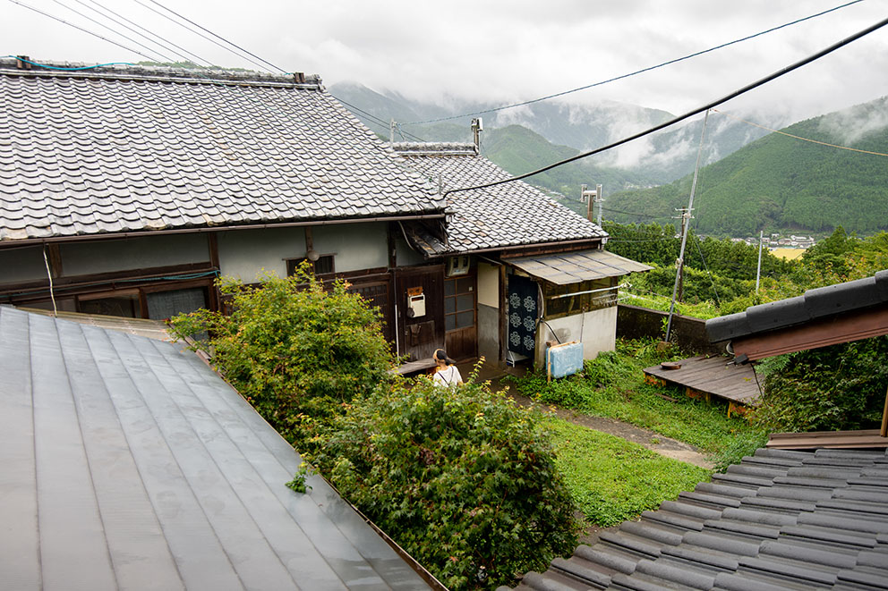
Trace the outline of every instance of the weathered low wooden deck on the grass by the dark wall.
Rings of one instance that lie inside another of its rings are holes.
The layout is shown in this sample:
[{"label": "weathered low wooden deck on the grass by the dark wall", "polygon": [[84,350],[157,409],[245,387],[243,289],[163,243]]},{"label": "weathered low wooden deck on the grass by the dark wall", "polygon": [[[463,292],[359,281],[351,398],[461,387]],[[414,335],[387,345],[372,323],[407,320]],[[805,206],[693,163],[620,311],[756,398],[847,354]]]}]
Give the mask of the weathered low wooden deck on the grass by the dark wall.
[{"label": "weathered low wooden deck on the grass by the dark wall", "polygon": [[741,407],[756,404],[758,384],[751,366],[736,365],[730,358],[721,356],[692,357],[676,363],[681,364],[679,369],[645,368],[645,379],[684,386],[687,395],[693,398],[709,400],[717,396],[730,402],[730,410],[742,411]]}]

